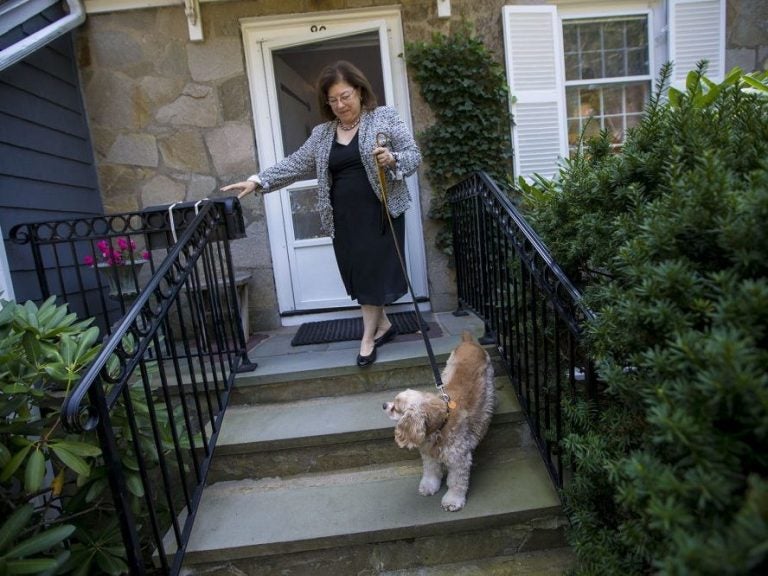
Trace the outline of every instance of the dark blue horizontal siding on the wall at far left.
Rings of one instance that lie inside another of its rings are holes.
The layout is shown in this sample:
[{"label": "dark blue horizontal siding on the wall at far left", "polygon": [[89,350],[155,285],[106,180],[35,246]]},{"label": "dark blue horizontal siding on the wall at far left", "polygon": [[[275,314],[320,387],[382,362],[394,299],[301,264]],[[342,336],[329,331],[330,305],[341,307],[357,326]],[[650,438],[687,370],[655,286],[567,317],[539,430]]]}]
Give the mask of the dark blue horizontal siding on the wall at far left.
[{"label": "dark blue horizontal siding on the wall at far left", "polygon": [[[63,15],[59,6],[0,38],[0,48]],[[71,35],[0,72],[0,226],[103,213]],[[28,246],[6,242],[19,301],[39,298]]]}]

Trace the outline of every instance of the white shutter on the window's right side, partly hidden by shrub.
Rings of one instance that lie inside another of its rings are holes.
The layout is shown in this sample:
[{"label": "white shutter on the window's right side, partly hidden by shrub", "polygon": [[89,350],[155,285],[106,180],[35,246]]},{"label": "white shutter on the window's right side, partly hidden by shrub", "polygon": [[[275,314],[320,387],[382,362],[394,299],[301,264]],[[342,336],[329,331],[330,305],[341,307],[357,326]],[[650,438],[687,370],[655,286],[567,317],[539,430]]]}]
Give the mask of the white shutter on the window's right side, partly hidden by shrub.
[{"label": "white shutter on the window's right side, partly hidden by shrub", "polygon": [[708,60],[707,77],[725,75],[725,0],[670,0],[669,57],[672,83],[685,82],[699,60]]}]

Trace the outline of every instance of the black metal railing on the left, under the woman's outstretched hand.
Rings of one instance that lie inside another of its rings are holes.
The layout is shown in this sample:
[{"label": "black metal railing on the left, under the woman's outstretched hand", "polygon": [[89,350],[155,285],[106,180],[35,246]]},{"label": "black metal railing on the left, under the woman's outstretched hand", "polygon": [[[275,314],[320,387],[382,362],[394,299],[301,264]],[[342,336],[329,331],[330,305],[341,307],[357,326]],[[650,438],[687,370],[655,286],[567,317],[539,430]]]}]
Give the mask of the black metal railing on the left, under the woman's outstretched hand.
[{"label": "black metal railing on the left, under the woman's outstretched hand", "polygon": [[243,235],[234,198],[11,231],[41,299],[58,294],[107,335],[62,415],[98,432],[131,574],[179,572],[235,374],[255,368],[229,245]]}]

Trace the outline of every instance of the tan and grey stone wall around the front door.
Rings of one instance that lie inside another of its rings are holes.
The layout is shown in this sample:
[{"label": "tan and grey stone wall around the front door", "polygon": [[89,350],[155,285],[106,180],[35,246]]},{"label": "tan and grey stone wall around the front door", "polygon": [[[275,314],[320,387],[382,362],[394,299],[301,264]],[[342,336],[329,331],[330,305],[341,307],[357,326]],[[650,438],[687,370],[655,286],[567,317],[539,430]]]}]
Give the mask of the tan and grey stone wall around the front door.
[{"label": "tan and grey stone wall around the front door", "polygon": [[[546,0],[452,0],[450,19],[437,17],[436,0],[401,0],[406,42],[450,32],[462,19],[503,62],[501,7]],[[105,209],[123,212],[218,194],[220,186],[257,170],[253,118],[239,19],[393,5],[391,0],[259,0],[201,5],[205,40],[190,42],[181,4],[91,14],[78,31],[78,58]],[[729,0],[728,68],[764,68],[768,58],[768,2]],[[760,17],[753,17],[759,14]],[[431,114],[411,84],[416,133]],[[419,173],[422,214],[429,182]],[[237,266],[253,272],[251,322],[280,325],[261,201],[244,203],[248,237],[235,242]],[[455,278],[434,248],[435,222],[424,219],[429,293],[434,310],[456,305]]]}]

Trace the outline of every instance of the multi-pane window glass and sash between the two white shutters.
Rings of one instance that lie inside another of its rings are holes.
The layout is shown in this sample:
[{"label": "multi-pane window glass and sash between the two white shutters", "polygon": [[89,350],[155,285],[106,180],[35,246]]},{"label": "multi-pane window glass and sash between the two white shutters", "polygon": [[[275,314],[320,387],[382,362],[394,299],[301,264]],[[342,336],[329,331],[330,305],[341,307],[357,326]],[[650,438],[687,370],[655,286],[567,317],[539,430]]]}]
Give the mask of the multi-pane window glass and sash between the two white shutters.
[{"label": "multi-pane window glass and sash between the two white shutters", "polygon": [[607,130],[614,146],[651,90],[648,17],[563,20],[568,146]]}]

